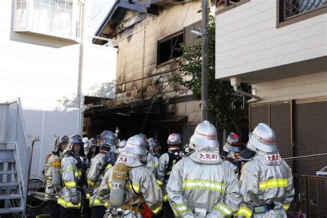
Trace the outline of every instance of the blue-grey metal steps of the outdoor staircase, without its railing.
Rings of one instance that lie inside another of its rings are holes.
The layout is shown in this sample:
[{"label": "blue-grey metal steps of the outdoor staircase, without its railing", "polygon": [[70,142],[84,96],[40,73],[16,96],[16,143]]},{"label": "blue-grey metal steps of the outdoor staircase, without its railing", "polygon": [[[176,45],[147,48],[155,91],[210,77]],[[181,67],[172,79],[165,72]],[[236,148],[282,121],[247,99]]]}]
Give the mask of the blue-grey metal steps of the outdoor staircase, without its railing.
[{"label": "blue-grey metal steps of the outdoor staircase, without its railing", "polygon": [[23,196],[18,181],[14,149],[5,147],[0,145],[0,214],[22,213]]}]

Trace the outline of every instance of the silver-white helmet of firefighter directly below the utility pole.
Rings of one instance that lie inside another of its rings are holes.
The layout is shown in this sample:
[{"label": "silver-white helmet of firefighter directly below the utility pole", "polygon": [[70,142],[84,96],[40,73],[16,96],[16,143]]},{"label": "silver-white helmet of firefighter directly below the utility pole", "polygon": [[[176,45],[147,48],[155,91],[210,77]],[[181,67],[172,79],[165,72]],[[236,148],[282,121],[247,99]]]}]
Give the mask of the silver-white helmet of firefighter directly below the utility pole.
[{"label": "silver-white helmet of firefighter directly below the utility pole", "polygon": [[217,130],[209,121],[203,121],[197,125],[195,132],[190,137],[190,143],[201,147],[219,147]]}]

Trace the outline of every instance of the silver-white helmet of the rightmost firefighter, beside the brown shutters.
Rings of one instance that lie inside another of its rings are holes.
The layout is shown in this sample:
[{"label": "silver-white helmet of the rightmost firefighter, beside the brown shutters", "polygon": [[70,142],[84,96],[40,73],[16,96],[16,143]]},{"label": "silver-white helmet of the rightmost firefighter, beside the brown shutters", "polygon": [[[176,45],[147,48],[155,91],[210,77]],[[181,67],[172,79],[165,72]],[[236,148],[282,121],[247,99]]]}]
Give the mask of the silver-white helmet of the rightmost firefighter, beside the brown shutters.
[{"label": "silver-white helmet of the rightmost firefighter, beside the brown shutters", "polygon": [[258,150],[268,153],[278,152],[275,132],[266,123],[259,123],[253,132],[249,133],[248,137],[248,144]]}]

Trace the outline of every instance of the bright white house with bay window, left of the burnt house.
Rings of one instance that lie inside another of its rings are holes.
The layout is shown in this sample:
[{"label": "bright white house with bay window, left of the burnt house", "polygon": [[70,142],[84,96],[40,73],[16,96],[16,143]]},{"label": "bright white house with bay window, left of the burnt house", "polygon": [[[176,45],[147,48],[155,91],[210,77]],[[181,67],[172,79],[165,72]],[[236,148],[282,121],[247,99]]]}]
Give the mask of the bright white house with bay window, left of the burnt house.
[{"label": "bright white house with bay window, left of the burnt house", "polygon": [[32,176],[43,177],[54,135],[82,133],[84,101],[115,97],[117,49],[91,43],[87,3],[0,1],[0,103],[19,97],[26,134],[40,138]]}]

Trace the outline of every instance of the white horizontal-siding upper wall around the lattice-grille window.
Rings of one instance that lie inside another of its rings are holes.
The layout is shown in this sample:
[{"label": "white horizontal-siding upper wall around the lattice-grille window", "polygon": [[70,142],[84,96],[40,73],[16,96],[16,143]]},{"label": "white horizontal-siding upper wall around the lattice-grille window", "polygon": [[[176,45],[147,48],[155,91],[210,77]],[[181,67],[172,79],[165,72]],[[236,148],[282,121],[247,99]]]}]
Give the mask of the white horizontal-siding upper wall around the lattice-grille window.
[{"label": "white horizontal-siding upper wall around the lattice-grille window", "polygon": [[216,78],[327,55],[327,14],[276,28],[276,1],[252,0],[216,16]]}]

